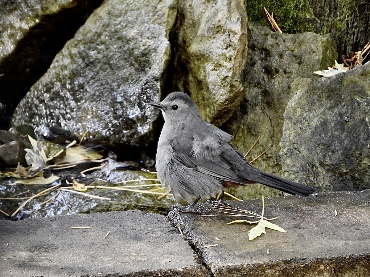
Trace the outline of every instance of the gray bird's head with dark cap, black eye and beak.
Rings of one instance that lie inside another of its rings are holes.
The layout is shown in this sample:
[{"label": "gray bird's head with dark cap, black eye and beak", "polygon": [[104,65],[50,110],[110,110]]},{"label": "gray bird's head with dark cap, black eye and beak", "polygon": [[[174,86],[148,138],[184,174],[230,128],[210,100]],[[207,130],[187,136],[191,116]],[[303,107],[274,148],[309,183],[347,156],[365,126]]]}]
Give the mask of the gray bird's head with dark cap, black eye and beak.
[{"label": "gray bird's head with dark cap, black eye and beak", "polygon": [[193,99],[184,92],[172,92],[162,102],[148,105],[161,109],[165,120],[185,118],[188,114],[200,116]]}]

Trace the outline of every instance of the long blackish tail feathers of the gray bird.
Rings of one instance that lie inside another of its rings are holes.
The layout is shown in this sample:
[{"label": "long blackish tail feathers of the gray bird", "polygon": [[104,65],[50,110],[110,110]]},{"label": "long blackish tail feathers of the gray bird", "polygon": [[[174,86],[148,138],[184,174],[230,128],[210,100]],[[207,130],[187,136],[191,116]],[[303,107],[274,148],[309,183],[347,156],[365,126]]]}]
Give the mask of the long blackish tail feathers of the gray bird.
[{"label": "long blackish tail feathers of the gray bird", "polygon": [[255,178],[253,178],[253,181],[266,185],[270,188],[279,189],[280,191],[287,192],[289,194],[308,196],[316,191],[314,188],[289,181],[266,172],[259,171],[258,173],[259,174],[256,174]]}]

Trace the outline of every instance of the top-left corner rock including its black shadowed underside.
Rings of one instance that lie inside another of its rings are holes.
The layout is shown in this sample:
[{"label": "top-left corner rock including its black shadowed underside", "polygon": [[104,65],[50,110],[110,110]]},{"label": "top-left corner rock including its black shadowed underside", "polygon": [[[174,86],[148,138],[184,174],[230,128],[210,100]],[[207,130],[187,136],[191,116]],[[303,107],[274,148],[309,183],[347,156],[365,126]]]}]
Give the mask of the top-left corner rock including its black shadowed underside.
[{"label": "top-left corner rock including its black shadowed underside", "polygon": [[0,128],[54,56],[102,0],[12,0],[0,4]]}]

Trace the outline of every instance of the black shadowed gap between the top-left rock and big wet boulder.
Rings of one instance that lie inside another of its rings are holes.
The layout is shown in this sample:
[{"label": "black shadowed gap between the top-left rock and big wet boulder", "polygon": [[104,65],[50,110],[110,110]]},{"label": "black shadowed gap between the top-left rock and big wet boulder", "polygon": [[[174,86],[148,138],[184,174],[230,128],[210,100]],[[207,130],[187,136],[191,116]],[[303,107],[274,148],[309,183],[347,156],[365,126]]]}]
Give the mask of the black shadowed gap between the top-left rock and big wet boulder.
[{"label": "black shadowed gap between the top-left rock and big wet boulder", "polygon": [[102,0],[80,1],[56,14],[43,16],[0,64],[0,129],[31,86],[45,74],[55,55],[73,38]]}]

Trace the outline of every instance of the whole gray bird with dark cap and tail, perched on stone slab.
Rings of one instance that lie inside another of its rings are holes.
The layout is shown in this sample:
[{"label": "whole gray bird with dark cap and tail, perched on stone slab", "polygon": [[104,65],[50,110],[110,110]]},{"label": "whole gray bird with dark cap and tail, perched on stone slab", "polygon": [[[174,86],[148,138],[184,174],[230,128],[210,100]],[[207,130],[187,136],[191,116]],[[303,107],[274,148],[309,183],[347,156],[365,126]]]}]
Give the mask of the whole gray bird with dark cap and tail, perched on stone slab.
[{"label": "whole gray bird with dark cap and tail, perched on stone slab", "polygon": [[166,191],[192,206],[235,185],[260,183],[289,194],[307,196],[315,189],[262,172],[250,165],[228,142],[232,136],[202,119],[194,101],[183,92],[161,103],[164,126],[158,141],[156,168]]}]

